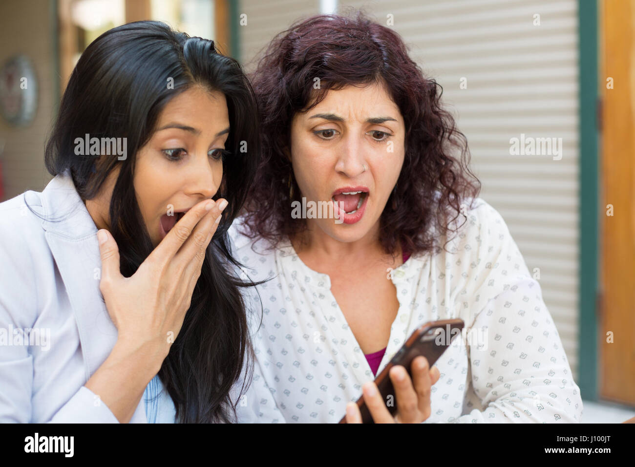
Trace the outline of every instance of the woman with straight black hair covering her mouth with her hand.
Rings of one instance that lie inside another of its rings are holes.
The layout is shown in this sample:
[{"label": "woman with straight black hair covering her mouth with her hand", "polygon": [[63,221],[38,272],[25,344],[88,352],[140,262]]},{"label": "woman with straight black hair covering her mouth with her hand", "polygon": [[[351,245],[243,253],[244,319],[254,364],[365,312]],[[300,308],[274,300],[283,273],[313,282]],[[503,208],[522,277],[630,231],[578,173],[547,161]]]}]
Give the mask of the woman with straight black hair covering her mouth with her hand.
[{"label": "woman with straight black hair covering her mouth with her hand", "polygon": [[254,109],[213,41],[135,22],[88,46],[46,146],[55,177],[0,204],[0,421],[236,419],[253,284],[227,227]]}]

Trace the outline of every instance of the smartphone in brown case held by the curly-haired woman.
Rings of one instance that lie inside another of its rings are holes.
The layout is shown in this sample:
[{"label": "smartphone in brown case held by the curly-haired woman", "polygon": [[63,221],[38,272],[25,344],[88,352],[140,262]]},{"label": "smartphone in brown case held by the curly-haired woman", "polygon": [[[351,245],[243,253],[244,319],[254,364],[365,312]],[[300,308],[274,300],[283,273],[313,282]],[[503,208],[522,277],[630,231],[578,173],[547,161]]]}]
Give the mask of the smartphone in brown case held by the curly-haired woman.
[{"label": "smartphone in brown case held by the curly-haired woman", "polygon": [[[395,365],[402,365],[408,371],[410,377],[412,377],[410,365],[419,355],[425,356],[428,360],[429,367],[432,368],[432,365],[434,365],[443,352],[445,352],[445,349],[450,346],[452,339],[458,334],[461,334],[464,325],[463,320],[431,321],[418,327],[415,332],[408,337],[406,343],[403,344],[388,365],[386,365],[382,372],[375,378],[375,384],[377,384],[377,388],[384,402],[388,402],[389,396],[392,396],[392,404],[386,404],[391,414],[397,411],[395,391],[388,374],[391,368]],[[364,396],[358,399],[357,405],[361,412],[362,423],[374,423],[373,417],[371,417],[370,411],[368,407],[366,407],[366,403],[364,403]],[[340,423],[346,423],[345,415],[340,420]]]}]

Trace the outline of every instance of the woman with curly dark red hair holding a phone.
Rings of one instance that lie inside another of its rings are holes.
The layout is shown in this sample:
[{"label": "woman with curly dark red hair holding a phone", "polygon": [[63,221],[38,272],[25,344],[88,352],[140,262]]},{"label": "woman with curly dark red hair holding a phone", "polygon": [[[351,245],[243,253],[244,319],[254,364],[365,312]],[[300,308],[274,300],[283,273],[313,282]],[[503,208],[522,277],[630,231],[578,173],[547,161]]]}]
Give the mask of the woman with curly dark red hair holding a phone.
[{"label": "woman with curly dark red hair holding a phone", "polygon": [[[356,422],[363,392],[375,421],[579,421],[540,286],[399,35],[361,14],[312,17],[252,78],[262,154],[230,234],[243,273],[271,278],[251,298],[264,308],[256,419]],[[450,318],[466,332],[436,367],[391,370],[393,418],[373,376],[413,330]]]}]

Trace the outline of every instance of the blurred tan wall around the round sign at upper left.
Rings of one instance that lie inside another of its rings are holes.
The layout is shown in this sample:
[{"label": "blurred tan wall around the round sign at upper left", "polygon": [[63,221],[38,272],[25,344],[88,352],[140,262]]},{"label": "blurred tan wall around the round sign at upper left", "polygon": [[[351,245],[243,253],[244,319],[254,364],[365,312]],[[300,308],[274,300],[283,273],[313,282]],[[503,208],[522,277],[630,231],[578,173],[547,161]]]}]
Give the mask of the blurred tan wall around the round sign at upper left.
[{"label": "blurred tan wall around the round sign at upper left", "polygon": [[51,8],[48,0],[0,1],[0,64],[17,53],[27,55],[34,63],[39,91],[36,117],[29,126],[17,128],[0,118],[2,201],[27,189],[41,191],[51,178],[44,168],[44,144],[57,100]]}]

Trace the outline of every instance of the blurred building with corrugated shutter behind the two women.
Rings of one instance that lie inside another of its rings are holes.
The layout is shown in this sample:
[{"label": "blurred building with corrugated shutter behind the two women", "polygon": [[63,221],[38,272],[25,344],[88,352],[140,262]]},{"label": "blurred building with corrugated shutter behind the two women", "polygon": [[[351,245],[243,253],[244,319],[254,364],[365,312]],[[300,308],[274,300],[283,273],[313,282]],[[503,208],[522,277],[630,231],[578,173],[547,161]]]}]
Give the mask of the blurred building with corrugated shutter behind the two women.
[{"label": "blurred building with corrugated shutter behind the two women", "polygon": [[[3,0],[0,200],[50,180],[43,147],[60,95],[105,30],[163,20],[215,39],[250,71],[296,20],[354,8],[401,34],[443,86],[481,196],[540,283],[583,421],[635,416],[633,0]],[[558,146],[515,154],[514,138]]]}]

